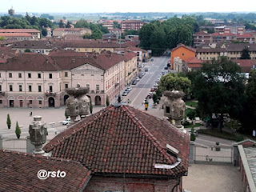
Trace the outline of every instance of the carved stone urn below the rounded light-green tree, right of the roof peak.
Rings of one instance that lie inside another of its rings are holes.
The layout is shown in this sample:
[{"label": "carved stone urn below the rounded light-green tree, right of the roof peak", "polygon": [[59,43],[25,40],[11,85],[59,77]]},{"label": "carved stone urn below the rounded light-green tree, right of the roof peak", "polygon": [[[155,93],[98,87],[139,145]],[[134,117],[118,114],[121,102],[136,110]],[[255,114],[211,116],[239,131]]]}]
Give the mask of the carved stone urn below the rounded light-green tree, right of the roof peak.
[{"label": "carved stone urn below the rounded light-green tree, right of the roof peak", "polygon": [[182,91],[172,90],[164,93],[166,101],[164,103],[164,115],[177,128],[182,128],[182,120],[185,118],[186,104],[182,100],[185,95]]}]

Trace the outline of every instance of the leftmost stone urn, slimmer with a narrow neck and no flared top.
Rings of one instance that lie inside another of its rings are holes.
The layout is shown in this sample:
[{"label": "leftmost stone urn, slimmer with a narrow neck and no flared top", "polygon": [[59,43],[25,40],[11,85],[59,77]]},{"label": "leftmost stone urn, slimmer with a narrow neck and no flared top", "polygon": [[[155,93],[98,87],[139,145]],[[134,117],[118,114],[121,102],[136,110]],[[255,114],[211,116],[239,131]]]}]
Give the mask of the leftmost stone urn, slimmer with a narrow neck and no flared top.
[{"label": "leftmost stone urn, slimmer with a narrow neck and no flared top", "polygon": [[46,142],[48,134],[46,123],[41,122],[42,116],[34,116],[34,121],[30,123],[29,134],[30,142],[34,145],[34,154],[44,154],[42,145]]}]

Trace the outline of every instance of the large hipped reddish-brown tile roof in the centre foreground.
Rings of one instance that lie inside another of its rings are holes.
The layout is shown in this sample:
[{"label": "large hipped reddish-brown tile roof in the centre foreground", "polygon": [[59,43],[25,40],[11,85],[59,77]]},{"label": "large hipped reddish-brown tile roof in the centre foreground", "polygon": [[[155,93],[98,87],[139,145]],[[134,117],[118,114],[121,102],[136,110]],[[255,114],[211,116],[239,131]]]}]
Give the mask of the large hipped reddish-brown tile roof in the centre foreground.
[{"label": "large hipped reddish-brown tile roof in the centre foreground", "polygon": [[[172,169],[154,168],[156,163],[173,165],[175,147],[181,162]],[[138,174],[175,177],[188,169],[190,138],[170,122],[130,106],[108,106],[52,139],[44,150],[52,156],[82,162],[96,174]]]}]

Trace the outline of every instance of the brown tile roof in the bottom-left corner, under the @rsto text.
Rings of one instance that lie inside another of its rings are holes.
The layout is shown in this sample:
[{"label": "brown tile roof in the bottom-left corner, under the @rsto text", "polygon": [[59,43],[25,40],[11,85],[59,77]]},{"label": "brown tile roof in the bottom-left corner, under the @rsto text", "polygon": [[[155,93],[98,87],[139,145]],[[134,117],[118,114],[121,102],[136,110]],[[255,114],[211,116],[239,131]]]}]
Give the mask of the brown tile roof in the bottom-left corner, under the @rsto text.
[{"label": "brown tile roof in the bottom-left corner, under the @rsto text", "polygon": [[[39,170],[65,171],[66,176],[39,179]],[[0,191],[81,191],[90,173],[80,162],[0,150]]]}]

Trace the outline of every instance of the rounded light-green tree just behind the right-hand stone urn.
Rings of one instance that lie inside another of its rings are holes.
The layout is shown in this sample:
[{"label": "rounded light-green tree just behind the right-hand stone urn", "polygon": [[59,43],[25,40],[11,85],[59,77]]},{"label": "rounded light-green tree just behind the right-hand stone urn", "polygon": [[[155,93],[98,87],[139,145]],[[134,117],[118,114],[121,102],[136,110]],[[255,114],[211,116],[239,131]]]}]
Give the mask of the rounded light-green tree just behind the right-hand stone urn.
[{"label": "rounded light-green tree just behind the right-hand stone urn", "polygon": [[160,90],[182,90],[185,94],[190,91],[190,79],[179,77],[178,74],[166,74],[160,79]]}]

